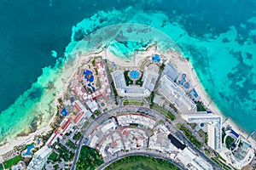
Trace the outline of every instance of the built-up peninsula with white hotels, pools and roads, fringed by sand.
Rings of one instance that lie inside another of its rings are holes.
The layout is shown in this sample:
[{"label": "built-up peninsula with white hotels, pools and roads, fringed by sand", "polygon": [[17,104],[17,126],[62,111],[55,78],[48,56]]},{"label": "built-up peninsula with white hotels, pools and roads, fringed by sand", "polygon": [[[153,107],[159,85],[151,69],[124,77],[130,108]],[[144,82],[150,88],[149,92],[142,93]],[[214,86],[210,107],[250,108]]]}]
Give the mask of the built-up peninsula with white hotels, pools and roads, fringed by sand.
[{"label": "built-up peninsula with white hotels, pools and roads, fringed by sand", "polygon": [[177,51],[155,43],[129,61],[106,48],[74,55],[50,126],[1,146],[0,169],[103,169],[129,156],[177,169],[253,166],[255,140],[218,111]]}]

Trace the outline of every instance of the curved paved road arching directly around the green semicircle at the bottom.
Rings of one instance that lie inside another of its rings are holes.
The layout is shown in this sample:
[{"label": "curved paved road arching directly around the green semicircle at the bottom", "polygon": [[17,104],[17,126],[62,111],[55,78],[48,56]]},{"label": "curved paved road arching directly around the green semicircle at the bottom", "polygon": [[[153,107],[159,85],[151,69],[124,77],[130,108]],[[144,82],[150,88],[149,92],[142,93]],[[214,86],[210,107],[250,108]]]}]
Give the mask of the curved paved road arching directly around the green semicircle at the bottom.
[{"label": "curved paved road arching directly around the green semicircle at the bottom", "polygon": [[166,161],[170,161],[172,164],[176,165],[177,167],[179,167],[180,169],[186,169],[186,167],[183,167],[183,165],[177,163],[176,161],[173,161],[172,159],[170,159],[167,156],[160,156],[160,154],[158,153],[154,153],[152,151],[148,151],[148,150],[142,150],[142,151],[133,151],[133,152],[129,152],[129,153],[125,153],[125,152],[120,152],[119,155],[115,156],[113,159],[111,159],[110,161],[105,162],[104,164],[102,164],[100,167],[97,167],[97,170],[102,170],[104,169],[104,167],[108,167],[108,165],[110,165],[111,163],[113,163],[114,161],[118,161],[124,157],[128,157],[128,156],[151,156],[151,157],[155,157],[155,158],[159,158],[159,159],[164,159]]}]

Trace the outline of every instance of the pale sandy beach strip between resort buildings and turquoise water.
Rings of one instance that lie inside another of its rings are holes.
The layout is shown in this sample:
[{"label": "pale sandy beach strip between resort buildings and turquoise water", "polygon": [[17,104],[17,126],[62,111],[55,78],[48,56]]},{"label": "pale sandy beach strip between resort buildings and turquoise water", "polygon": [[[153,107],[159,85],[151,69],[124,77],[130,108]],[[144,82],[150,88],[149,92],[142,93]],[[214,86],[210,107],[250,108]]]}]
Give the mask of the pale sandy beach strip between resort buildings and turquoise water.
[{"label": "pale sandy beach strip between resort buildings and turquoise water", "polygon": [[[81,53],[79,53],[81,52]],[[64,65],[64,67],[62,68],[62,71],[65,73],[62,74],[61,77],[61,82],[62,82],[62,91],[56,95],[56,99],[63,96],[63,94],[65,94],[65,91],[67,90],[67,87],[69,86],[69,82],[72,80],[74,74],[76,74],[77,69],[79,68],[79,65],[81,65],[82,62],[86,62],[88,59],[97,56],[97,55],[102,55],[103,59],[108,59],[114,63],[116,63],[117,65],[122,65],[122,66],[131,66],[131,67],[135,67],[139,64],[139,62],[143,59],[145,59],[146,57],[150,56],[151,54],[154,54],[154,50],[153,49],[149,49],[146,52],[143,52],[144,54],[137,54],[136,55],[136,62],[133,62],[134,60],[132,60],[131,62],[126,62],[123,59],[119,59],[118,57],[114,56],[113,54],[111,54],[108,50],[102,50],[100,53],[96,53],[96,54],[85,54],[85,51],[83,51],[83,49],[78,50],[74,50],[73,53],[71,55],[73,55],[72,59],[67,61],[67,65]],[[212,102],[212,99],[209,97],[209,95],[207,94],[207,92],[205,91],[205,88],[203,88],[201,82],[199,81],[195,70],[193,69],[192,64],[187,61],[186,59],[183,59],[179,54],[177,53],[173,53],[172,52],[167,52],[167,54],[164,54],[165,56],[167,55],[168,58],[171,60],[172,65],[174,65],[177,68],[177,71],[179,74],[185,73],[187,74],[187,80],[188,82],[191,84],[192,87],[195,87],[195,90],[197,91],[197,93],[201,96],[201,101],[207,105],[207,107],[215,114],[218,114],[220,116],[223,117],[223,121],[225,120],[225,116],[222,114],[221,111],[218,110],[218,107],[214,104],[214,102]],[[210,105],[208,105],[210,104]],[[47,133],[51,130],[51,127],[49,127],[50,123],[53,122],[55,119],[55,116],[52,117],[48,123],[48,125],[46,127],[42,127],[40,129],[38,129],[36,132],[34,133],[30,133],[27,136],[23,136],[23,137],[17,137],[15,139],[13,139],[11,142],[4,144],[3,146],[0,146],[0,156],[9,152],[10,150],[13,150],[13,148],[16,145],[20,145],[20,144],[30,144],[32,143],[32,140],[34,139],[35,135],[39,135],[42,133]],[[241,136],[243,136],[244,138],[247,138],[247,133],[243,132],[237,125],[235,122],[232,122],[230,119],[225,122],[225,124],[228,123],[230,124],[231,127],[233,127],[233,129],[237,132],[240,133]],[[256,142],[254,139],[250,138],[248,139],[250,144],[253,145],[253,147],[256,147]],[[1,161],[1,159],[0,159]]]}]

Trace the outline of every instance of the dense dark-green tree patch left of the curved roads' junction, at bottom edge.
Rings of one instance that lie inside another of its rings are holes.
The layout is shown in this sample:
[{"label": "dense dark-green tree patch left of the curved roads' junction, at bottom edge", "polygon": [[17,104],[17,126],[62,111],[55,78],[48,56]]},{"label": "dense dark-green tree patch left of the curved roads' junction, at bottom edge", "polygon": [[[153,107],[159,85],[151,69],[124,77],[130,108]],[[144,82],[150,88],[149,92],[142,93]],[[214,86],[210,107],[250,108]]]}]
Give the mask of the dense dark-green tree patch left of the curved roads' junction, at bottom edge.
[{"label": "dense dark-green tree patch left of the curved roads' junction, at bottom edge", "polygon": [[77,162],[77,169],[96,169],[96,167],[102,165],[103,162],[102,157],[95,149],[82,146]]}]

